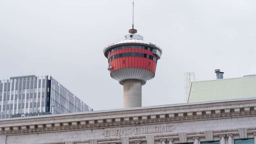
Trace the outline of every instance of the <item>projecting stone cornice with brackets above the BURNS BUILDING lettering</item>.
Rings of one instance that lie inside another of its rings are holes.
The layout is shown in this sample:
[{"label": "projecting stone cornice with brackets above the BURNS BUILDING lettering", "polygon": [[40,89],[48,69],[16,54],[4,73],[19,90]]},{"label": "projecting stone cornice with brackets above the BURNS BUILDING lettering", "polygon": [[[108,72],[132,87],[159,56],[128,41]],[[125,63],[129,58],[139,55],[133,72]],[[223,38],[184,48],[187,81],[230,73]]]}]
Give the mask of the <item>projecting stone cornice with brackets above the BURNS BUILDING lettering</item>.
[{"label": "projecting stone cornice with brackets above the BURNS BUILDING lettering", "polygon": [[256,116],[256,100],[228,101],[113,112],[1,120],[0,134],[44,133],[106,127]]}]

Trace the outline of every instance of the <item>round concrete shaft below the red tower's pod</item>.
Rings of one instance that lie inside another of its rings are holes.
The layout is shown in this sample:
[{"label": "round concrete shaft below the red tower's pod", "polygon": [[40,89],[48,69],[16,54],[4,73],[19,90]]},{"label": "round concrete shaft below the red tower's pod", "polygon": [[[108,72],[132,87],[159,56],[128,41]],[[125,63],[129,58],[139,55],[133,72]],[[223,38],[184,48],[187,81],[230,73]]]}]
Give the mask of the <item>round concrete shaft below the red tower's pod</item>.
[{"label": "round concrete shaft below the red tower's pod", "polygon": [[141,107],[141,89],[140,80],[126,80],[123,82],[123,107],[133,108]]}]

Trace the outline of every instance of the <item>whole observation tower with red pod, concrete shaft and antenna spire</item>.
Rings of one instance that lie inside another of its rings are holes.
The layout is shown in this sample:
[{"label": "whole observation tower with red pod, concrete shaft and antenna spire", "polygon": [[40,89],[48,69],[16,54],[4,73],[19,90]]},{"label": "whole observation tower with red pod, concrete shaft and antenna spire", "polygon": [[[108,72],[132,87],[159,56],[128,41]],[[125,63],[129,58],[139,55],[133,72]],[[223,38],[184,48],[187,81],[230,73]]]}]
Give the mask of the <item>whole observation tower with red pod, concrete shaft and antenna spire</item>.
[{"label": "whole observation tower with red pod, concrete shaft and antenna spire", "polygon": [[157,61],[162,50],[155,44],[146,42],[133,25],[121,41],[108,45],[103,52],[108,59],[110,76],[123,85],[123,107],[141,107],[141,89],[156,73]]}]

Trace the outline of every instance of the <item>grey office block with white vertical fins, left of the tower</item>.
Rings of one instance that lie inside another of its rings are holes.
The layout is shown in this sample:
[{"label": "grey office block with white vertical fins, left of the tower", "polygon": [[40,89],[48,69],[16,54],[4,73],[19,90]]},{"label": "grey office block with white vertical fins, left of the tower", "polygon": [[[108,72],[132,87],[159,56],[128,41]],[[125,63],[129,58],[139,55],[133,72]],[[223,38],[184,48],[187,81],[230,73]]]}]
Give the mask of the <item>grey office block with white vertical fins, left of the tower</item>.
[{"label": "grey office block with white vertical fins, left of the tower", "polygon": [[0,118],[91,111],[52,76],[10,77],[0,81]]}]

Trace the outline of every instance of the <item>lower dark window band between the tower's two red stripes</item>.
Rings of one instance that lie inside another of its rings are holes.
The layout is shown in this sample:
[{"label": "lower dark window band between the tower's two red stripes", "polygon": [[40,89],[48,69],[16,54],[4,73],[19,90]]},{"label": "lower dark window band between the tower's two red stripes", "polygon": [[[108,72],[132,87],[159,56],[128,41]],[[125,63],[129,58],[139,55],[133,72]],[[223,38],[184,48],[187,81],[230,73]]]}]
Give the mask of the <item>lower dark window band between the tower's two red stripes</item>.
[{"label": "lower dark window band between the tower's two red stripes", "polygon": [[152,55],[149,55],[149,54],[146,54],[146,53],[139,53],[139,52],[125,52],[125,53],[119,53],[119,54],[116,54],[116,55],[113,55],[111,56],[109,59],[108,59],[108,62],[116,59],[116,58],[119,58],[119,57],[125,57],[125,56],[138,56],[138,57],[145,57],[145,58],[148,58],[148,59],[152,59],[154,62],[157,62],[157,58],[155,58],[154,56]]}]

